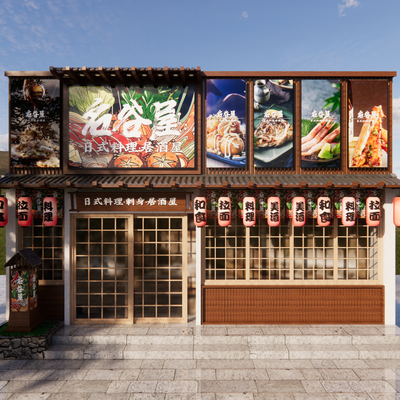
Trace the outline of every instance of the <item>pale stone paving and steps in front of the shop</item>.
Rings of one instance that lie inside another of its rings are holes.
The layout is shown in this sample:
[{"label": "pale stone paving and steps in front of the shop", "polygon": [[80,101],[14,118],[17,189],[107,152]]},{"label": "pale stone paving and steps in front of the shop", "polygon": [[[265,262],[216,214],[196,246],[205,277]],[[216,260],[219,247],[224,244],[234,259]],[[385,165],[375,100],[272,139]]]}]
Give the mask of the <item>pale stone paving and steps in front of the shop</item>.
[{"label": "pale stone paving and steps in front of the shop", "polygon": [[54,339],[49,356],[75,359],[0,360],[0,400],[400,399],[394,326],[75,325]]}]

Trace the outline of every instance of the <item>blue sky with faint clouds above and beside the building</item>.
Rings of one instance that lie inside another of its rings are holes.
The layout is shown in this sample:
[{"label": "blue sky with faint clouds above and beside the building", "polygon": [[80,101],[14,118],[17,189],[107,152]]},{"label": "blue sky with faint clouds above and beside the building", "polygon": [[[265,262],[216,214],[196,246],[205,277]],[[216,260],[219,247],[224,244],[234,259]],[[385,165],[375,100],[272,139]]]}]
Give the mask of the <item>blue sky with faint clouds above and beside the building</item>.
[{"label": "blue sky with faint clouds above and beside the building", "polygon": [[[397,71],[399,15],[399,0],[0,0],[0,150],[8,149],[4,71]],[[393,110],[400,154],[399,77]]]}]

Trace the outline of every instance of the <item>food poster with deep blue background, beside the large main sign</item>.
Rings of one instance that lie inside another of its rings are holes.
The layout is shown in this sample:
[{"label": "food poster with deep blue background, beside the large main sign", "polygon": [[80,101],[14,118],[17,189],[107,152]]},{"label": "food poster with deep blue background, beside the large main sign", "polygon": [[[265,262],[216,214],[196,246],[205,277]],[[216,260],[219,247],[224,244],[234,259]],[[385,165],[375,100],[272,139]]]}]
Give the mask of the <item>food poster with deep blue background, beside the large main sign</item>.
[{"label": "food poster with deep blue background, beside the large main sign", "polygon": [[207,168],[246,166],[246,82],[207,81]]}]

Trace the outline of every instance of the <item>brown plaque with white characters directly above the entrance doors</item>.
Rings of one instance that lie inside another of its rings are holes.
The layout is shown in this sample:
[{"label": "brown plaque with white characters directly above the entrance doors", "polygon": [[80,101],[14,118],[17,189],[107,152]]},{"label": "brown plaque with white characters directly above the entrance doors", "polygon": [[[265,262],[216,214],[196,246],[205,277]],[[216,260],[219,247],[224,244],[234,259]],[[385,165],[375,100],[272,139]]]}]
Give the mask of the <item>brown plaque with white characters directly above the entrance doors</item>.
[{"label": "brown plaque with white characters directly above the entrance doors", "polygon": [[186,211],[185,193],[77,193],[77,211]]}]

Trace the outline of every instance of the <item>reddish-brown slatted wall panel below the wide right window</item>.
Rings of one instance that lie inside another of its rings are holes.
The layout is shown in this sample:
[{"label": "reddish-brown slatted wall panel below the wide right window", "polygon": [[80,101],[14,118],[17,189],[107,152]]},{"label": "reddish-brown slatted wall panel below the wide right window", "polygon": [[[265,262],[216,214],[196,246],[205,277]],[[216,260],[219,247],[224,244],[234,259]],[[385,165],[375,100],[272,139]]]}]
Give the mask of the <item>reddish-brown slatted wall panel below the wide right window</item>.
[{"label": "reddish-brown slatted wall panel below the wide right window", "polygon": [[203,286],[203,324],[384,324],[384,286]]}]

